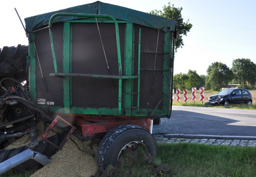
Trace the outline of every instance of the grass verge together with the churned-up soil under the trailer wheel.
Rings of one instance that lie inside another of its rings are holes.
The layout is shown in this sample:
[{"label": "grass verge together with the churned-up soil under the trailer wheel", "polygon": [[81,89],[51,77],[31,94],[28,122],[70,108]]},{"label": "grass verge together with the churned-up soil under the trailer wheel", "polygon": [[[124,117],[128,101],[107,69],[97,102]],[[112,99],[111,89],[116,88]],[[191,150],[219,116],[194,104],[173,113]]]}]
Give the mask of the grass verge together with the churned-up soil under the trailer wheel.
[{"label": "grass verge together with the churned-up soil under the trailer wheel", "polygon": [[[146,159],[146,160],[145,160]],[[256,148],[195,143],[158,144],[153,160],[141,152],[109,166],[103,177],[255,177]]]}]

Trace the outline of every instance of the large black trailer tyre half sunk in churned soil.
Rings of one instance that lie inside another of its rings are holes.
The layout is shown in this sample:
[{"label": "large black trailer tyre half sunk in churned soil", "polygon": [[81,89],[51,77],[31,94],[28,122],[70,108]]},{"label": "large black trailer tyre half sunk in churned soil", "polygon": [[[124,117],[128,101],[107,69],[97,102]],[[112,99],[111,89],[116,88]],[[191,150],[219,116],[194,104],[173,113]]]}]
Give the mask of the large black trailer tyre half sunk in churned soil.
[{"label": "large black trailer tyre half sunk in churned soil", "polygon": [[156,141],[148,130],[128,124],[113,128],[104,136],[98,148],[100,171],[103,172],[108,165],[115,165],[124,150],[136,149],[138,145],[143,145],[152,157],[156,156]]}]

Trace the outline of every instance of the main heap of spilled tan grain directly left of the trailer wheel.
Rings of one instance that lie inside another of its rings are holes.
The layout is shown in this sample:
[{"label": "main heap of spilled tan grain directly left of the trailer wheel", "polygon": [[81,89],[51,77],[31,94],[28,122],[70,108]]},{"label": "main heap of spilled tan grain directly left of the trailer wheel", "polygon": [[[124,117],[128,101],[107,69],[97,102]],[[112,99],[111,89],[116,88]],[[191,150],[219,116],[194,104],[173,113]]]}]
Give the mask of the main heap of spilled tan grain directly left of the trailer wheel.
[{"label": "main heap of spilled tan grain directly left of the trailer wheel", "polygon": [[[72,139],[75,140],[74,136]],[[88,141],[76,141],[76,143],[83,150],[97,153],[97,144],[93,145],[93,150],[91,150]],[[52,156],[51,162],[31,177],[90,177],[97,171],[98,166],[95,157],[78,150],[78,147],[69,139],[62,150]]]}]

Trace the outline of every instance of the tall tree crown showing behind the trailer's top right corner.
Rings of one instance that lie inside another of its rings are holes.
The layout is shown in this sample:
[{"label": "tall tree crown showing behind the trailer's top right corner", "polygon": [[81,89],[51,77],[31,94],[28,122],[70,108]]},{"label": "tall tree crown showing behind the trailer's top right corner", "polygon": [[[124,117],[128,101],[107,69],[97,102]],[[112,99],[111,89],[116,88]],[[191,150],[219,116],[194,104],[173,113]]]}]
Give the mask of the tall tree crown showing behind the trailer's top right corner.
[{"label": "tall tree crown showing behind the trailer's top right corner", "polygon": [[182,48],[182,46],[184,46],[182,36],[187,36],[187,32],[189,32],[193,26],[191,23],[189,23],[189,19],[186,22],[183,22],[181,11],[182,11],[182,7],[176,8],[174,7],[174,4],[172,4],[171,6],[170,2],[168,2],[168,6],[163,6],[163,11],[154,10],[150,12],[150,14],[158,15],[161,17],[165,17],[165,18],[169,18],[177,21],[177,29],[178,29],[179,35],[177,36],[175,41],[176,52],[179,47]]}]

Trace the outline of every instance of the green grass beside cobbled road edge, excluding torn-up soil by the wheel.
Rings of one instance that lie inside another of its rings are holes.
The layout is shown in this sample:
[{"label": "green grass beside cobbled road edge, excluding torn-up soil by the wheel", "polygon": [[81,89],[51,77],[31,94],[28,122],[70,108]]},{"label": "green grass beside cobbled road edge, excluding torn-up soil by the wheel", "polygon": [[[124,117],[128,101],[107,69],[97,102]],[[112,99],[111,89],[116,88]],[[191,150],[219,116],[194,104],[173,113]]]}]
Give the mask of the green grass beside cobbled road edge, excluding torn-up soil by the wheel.
[{"label": "green grass beside cobbled road edge, excluding torn-up soil by the wheel", "polygon": [[173,170],[173,177],[255,177],[256,148],[161,144],[158,160]]}]

